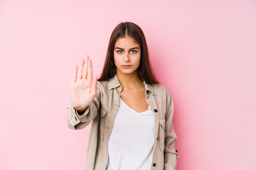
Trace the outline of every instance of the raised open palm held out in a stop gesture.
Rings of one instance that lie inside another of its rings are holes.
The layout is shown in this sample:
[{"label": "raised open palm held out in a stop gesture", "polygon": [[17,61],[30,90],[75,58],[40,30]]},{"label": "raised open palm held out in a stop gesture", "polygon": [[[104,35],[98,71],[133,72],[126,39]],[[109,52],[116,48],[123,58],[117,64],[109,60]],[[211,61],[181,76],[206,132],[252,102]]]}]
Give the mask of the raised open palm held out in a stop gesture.
[{"label": "raised open palm held out in a stop gesture", "polygon": [[97,76],[92,78],[92,61],[88,56],[75,66],[70,84],[72,106],[77,111],[84,111],[96,96]]}]

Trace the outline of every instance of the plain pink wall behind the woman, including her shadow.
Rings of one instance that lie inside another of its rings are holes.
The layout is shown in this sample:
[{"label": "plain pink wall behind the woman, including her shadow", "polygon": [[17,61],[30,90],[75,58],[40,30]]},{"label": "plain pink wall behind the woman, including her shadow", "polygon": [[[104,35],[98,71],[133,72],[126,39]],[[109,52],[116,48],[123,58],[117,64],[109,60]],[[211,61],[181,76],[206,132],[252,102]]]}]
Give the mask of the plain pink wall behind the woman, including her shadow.
[{"label": "plain pink wall behind the woman, including her shadow", "polygon": [[177,170],[256,169],[254,0],[0,0],[0,170],[83,170],[67,128],[74,65],[101,73],[112,30],[135,22],[175,101]]}]

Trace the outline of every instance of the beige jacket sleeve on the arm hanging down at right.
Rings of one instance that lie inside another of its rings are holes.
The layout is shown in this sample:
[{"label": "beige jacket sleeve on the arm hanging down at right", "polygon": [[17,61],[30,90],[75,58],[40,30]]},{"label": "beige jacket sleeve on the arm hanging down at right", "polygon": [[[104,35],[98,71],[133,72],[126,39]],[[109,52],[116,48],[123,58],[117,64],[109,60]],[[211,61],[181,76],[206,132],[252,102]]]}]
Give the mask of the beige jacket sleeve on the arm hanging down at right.
[{"label": "beige jacket sleeve on the arm hanging down at right", "polygon": [[175,148],[177,135],[173,128],[173,98],[167,90],[165,120],[164,170],[175,170],[176,158],[178,158],[179,155]]}]

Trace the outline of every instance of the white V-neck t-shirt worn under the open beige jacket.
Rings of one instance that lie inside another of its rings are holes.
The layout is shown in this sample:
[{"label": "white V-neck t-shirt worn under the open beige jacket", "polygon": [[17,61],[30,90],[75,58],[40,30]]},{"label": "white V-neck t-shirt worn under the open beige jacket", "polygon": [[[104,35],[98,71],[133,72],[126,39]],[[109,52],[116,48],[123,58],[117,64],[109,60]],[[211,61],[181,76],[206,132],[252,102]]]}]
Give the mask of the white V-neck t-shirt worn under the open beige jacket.
[{"label": "white V-neck t-shirt worn under the open beige jacket", "polygon": [[155,116],[150,106],[138,113],[120,98],[108,142],[106,170],[149,170],[153,158]]}]

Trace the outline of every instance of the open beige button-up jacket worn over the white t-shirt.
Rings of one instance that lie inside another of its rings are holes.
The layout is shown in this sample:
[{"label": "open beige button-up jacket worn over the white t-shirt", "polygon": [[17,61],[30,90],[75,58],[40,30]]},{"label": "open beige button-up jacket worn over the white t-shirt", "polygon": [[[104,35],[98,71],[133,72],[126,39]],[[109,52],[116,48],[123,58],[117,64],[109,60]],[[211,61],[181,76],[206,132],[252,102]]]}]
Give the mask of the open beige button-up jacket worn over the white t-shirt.
[{"label": "open beige button-up jacket worn over the white t-shirt", "polygon": [[[175,170],[177,136],[173,129],[173,98],[159,84],[145,84],[146,102],[155,114],[155,142],[151,170]],[[83,129],[92,122],[86,156],[85,170],[106,170],[108,139],[117,116],[122,87],[117,76],[109,81],[97,82],[97,95],[92,104],[79,115],[67,108],[67,124],[71,129]],[[93,121],[92,121],[93,120]],[[136,140],[136,139],[135,139]],[[131,167],[129,167],[132,169]]]}]

